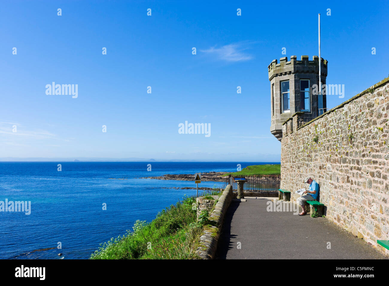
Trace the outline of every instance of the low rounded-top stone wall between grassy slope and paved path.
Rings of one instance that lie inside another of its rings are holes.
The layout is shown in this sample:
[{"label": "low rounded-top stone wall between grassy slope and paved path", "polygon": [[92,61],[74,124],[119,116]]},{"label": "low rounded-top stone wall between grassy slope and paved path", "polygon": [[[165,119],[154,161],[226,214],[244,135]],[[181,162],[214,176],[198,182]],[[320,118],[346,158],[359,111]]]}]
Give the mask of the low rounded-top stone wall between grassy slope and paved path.
[{"label": "low rounded-top stone wall between grassy slope and paved path", "polygon": [[223,225],[224,216],[233,198],[232,186],[228,185],[219,201],[216,203],[215,209],[209,217],[212,226],[206,226],[203,235],[200,237],[200,247],[197,249],[197,254],[202,259],[214,259],[217,249],[217,240],[219,239],[220,229]]}]

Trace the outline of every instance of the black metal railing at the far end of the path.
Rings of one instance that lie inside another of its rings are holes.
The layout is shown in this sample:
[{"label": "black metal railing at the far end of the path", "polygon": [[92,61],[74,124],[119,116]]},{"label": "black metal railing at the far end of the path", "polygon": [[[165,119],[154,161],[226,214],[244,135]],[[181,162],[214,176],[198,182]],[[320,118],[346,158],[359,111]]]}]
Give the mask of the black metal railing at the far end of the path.
[{"label": "black metal railing at the far end of the path", "polygon": [[[247,182],[244,183],[244,191],[277,191],[280,188],[280,175],[265,175],[265,176],[245,176]],[[226,183],[231,184],[234,191],[238,190],[238,184],[234,178],[226,178]]]}]

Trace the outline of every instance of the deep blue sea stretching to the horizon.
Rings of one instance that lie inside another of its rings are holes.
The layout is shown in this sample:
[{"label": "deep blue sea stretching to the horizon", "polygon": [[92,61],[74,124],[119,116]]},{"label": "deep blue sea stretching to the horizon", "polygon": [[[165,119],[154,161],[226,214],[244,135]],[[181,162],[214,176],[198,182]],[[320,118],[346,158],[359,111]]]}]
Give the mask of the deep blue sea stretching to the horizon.
[{"label": "deep blue sea stretching to the horizon", "polygon": [[[150,222],[196,195],[196,189],[179,189],[196,187],[194,181],[141,177],[236,172],[237,164],[279,162],[0,162],[0,259],[88,259],[135,221]],[[199,187],[225,184],[202,181]],[[1,211],[6,200],[26,202],[28,210]]]}]

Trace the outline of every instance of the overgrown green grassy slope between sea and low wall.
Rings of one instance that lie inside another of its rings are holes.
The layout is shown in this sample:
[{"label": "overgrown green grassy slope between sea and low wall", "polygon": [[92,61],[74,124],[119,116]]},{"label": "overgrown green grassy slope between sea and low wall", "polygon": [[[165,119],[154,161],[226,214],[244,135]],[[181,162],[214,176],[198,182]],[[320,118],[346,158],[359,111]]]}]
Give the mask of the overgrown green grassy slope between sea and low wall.
[{"label": "overgrown green grassy slope between sea and low wall", "polygon": [[208,214],[198,222],[195,204],[196,198],[186,197],[159,212],[151,223],[137,220],[132,231],[100,244],[90,259],[197,259]]}]

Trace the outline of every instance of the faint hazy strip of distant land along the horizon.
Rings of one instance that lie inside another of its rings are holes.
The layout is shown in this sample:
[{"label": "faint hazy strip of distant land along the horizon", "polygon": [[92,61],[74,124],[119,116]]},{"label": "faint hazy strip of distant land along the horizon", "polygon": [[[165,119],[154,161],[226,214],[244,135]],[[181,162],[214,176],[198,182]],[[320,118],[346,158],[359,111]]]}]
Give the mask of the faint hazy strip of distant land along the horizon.
[{"label": "faint hazy strip of distant land along the horizon", "polygon": [[[26,157],[26,158],[15,158],[15,157],[3,157],[0,158],[0,162],[235,162],[237,160],[167,160],[167,159],[145,159],[145,158],[84,158],[84,157],[73,157],[73,158],[44,158],[44,157]],[[263,162],[263,163],[280,163],[279,161],[246,161],[242,162]]]}]

